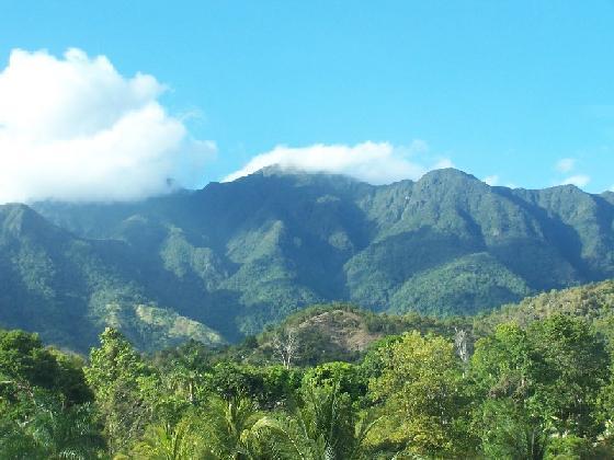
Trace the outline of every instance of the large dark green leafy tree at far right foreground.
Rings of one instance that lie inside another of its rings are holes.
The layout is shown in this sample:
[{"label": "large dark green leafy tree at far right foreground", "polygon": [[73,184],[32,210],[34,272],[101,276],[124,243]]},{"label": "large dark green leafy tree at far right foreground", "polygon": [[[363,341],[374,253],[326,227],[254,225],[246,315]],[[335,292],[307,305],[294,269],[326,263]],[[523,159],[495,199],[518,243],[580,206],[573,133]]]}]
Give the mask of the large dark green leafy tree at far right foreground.
[{"label": "large dark green leafy tree at far right foreground", "polygon": [[541,459],[562,437],[594,441],[603,429],[599,402],[609,363],[603,340],[580,319],[553,315],[526,331],[498,326],[478,341],[471,359],[482,400],[474,429],[484,451]]}]

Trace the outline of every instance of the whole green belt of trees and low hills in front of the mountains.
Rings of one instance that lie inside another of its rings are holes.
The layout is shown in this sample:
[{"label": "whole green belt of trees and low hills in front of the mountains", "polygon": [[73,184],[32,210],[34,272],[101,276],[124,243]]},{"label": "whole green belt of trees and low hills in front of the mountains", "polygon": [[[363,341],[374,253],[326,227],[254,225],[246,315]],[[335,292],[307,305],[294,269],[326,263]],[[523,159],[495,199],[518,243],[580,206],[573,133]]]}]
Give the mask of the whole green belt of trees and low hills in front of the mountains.
[{"label": "whole green belt of trees and low hills in front of the mountains", "polygon": [[0,331],[0,457],[609,459],[613,337],[614,281],[474,318],[314,306],[152,355],[107,327],[87,361]]}]

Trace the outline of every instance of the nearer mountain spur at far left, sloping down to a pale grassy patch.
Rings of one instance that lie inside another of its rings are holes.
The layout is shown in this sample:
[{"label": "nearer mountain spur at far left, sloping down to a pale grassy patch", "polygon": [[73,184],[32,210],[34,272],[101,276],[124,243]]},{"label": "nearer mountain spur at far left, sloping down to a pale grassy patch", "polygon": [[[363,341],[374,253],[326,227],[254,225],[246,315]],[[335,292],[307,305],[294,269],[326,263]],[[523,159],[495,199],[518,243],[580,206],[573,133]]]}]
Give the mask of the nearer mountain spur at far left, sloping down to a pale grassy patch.
[{"label": "nearer mountain spur at far left, sloping down to a pale grassy patch", "polygon": [[39,332],[86,352],[104,326],[121,327],[143,349],[187,338],[218,344],[204,324],[152,303],[143,267],[115,240],[73,237],[24,205],[0,206],[0,324]]}]

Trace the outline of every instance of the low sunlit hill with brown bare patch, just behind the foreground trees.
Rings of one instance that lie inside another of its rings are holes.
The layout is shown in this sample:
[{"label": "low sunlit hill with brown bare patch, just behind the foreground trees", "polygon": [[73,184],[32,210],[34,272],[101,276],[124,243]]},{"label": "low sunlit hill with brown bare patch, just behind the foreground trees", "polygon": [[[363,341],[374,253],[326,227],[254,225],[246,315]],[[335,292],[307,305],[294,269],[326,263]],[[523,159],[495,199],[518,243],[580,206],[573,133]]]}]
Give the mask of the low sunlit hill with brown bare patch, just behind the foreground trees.
[{"label": "low sunlit hill with brown bare patch, just behind the foreground trees", "polygon": [[390,335],[408,331],[441,335],[453,341],[457,331],[468,333],[469,344],[494,332],[497,325],[513,322],[522,327],[564,313],[585,320],[614,343],[614,280],[594,283],[527,297],[475,317],[425,317],[417,313],[374,313],[344,303],[312,306],[268,327],[253,341],[230,348],[234,359],[251,364],[278,363],[273,342],[293,331],[295,364],[314,366],[333,360],[356,361],[369,346]]}]

